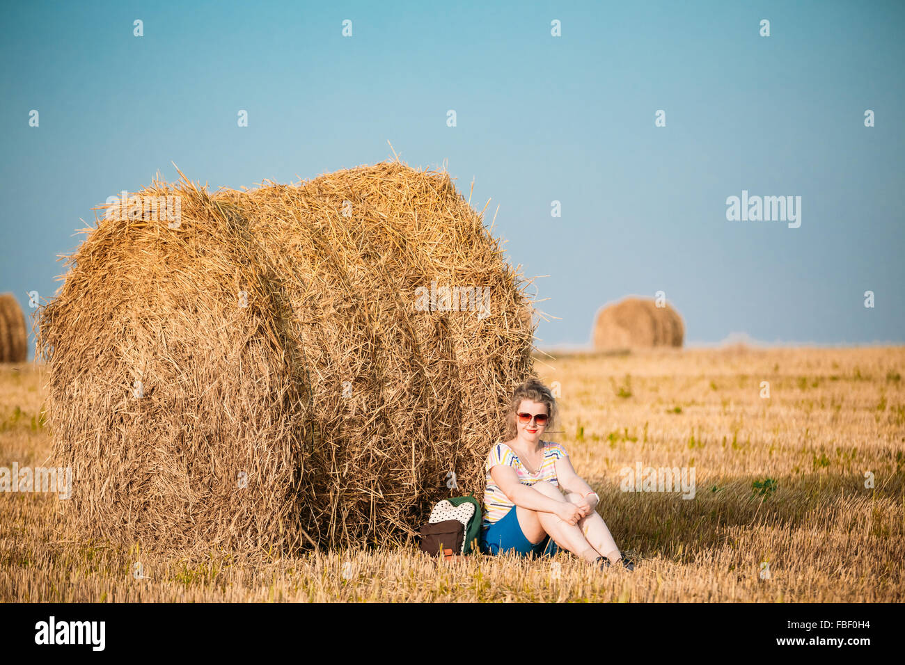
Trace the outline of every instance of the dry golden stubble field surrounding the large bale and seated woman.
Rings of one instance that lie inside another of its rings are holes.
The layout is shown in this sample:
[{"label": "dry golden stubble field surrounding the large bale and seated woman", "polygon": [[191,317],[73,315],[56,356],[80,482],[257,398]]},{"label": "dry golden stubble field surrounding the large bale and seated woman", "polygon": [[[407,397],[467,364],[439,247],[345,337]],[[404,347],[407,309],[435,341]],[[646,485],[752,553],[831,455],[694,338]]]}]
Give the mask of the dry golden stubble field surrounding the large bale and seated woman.
[{"label": "dry golden stubble field surrounding the large bale and seated woman", "polygon": [[[46,395],[32,366],[17,368],[0,369],[0,466],[40,465]],[[567,554],[448,565],[414,545],[152,556],[60,542],[59,499],[17,493],[0,494],[0,601],[902,602],[903,369],[901,347],[542,357],[538,374],[562,391],[549,438],[597,489],[633,574]],[[695,467],[696,498],[621,492],[619,470],[636,461]]]}]

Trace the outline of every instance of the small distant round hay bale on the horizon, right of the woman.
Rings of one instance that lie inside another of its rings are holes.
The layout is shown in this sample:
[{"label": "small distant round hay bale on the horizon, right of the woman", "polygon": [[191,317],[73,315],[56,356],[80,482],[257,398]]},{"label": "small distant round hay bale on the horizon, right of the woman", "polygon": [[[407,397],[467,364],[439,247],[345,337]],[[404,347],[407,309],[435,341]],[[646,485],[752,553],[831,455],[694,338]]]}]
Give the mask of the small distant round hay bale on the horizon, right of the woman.
[{"label": "small distant round hay bale on the horizon, right of the woman", "polygon": [[597,350],[681,347],[684,337],[679,313],[669,303],[657,307],[653,299],[625,298],[599,309],[594,322]]}]

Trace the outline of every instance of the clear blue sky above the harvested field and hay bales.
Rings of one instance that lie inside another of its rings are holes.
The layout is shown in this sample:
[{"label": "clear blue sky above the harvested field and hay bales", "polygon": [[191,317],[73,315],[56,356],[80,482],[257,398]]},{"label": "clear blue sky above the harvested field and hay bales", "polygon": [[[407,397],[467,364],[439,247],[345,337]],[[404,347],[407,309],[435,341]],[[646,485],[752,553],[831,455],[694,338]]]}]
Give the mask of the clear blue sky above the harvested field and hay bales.
[{"label": "clear blue sky above the harvested field and hay bales", "polygon": [[[91,207],[171,162],[238,188],[390,141],[466,198],[473,180],[488,224],[499,205],[510,261],[548,275],[538,346],[658,290],[690,344],[901,344],[903,28],[897,2],[9,3],[0,291],[30,313]],[[728,221],[742,190],[801,196],[801,226]]]}]

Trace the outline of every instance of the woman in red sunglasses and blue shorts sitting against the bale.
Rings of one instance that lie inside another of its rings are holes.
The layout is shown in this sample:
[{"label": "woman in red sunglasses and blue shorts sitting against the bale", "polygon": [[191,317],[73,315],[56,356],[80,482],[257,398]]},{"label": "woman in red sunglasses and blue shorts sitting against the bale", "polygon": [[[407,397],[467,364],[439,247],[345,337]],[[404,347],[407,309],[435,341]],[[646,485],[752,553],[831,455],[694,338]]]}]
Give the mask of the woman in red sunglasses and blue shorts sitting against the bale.
[{"label": "woman in red sunglasses and blue shorts sitting against the bale", "polygon": [[537,379],[512,394],[507,426],[514,438],[496,443],[487,458],[481,552],[551,556],[559,546],[601,568],[621,562],[634,570],[596,513],[600,498],[577,476],[566,449],[541,441],[555,415],[553,394]]}]

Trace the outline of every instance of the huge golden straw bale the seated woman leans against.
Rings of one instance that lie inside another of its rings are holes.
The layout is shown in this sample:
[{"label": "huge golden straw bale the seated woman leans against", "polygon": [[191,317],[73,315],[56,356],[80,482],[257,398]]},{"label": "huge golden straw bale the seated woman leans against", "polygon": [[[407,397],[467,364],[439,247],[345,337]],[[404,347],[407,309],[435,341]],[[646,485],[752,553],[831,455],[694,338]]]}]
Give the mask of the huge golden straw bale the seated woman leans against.
[{"label": "huge golden straw bale the seated woman leans against", "polygon": [[100,219],[39,314],[72,527],[182,552],[389,544],[480,496],[534,324],[447,174],[139,195],[178,196],[179,223]]}]

